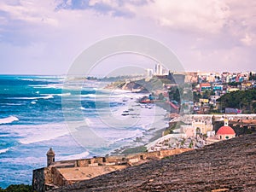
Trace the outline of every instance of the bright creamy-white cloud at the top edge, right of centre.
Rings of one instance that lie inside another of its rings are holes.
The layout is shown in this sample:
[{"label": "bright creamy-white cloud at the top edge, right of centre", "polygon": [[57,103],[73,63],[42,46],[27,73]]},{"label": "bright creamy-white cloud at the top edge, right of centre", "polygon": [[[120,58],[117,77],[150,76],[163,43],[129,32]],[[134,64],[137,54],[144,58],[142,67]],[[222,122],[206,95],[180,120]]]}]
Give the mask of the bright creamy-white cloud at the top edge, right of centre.
[{"label": "bright creamy-white cloud at the top edge, right of centre", "polygon": [[[140,9],[140,8],[138,8]],[[230,15],[223,1],[158,0],[138,10],[140,15],[155,20],[160,26],[189,32],[219,32]]]}]

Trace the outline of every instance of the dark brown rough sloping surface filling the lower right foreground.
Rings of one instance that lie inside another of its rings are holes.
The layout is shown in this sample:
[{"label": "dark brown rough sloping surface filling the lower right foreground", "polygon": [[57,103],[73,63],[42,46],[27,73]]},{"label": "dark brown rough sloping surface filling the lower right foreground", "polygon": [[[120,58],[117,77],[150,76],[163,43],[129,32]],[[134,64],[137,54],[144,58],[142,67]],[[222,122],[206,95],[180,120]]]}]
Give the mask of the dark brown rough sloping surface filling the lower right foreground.
[{"label": "dark brown rough sloping surface filling the lower right foreground", "polygon": [[256,134],[53,191],[256,191]]}]

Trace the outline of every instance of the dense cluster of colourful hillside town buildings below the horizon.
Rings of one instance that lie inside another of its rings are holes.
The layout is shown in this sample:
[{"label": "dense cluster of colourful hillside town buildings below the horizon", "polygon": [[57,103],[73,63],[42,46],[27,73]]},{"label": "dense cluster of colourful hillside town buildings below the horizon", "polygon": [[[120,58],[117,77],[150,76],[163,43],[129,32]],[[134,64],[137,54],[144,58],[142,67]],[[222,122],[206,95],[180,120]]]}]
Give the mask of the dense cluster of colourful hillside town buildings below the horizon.
[{"label": "dense cluster of colourful hillside town buildings below the horizon", "polygon": [[[256,73],[254,72],[241,72],[241,73],[204,73],[204,72],[180,72],[174,73],[167,71],[160,63],[155,64],[155,68],[146,69],[146,80],[152,78],[163,79],[164,88],[166,90],[172,89],[177,86],[180,89],[180,85],[189,84],[189,89],[192,88],[192,94],[190,98],[193,101],[177,101],[178,105],[183,109],[188,107],[185,102],[194,102],[190,108],[193,109],[193,113],[206,114],[209,112],[224,113],[224,108],[218,102],[218,99],[226,93],[230,93],[237,90],[248,90],[256,88]],[[161,89],[161,88],[160,88]],[[183,94],[186,94],[185,90],[182,90]],[[189,91],[191,92],[191,91]],[[189,93],[190,94],[190,93]],[[241,113],[237,111],[237,113]]]}]

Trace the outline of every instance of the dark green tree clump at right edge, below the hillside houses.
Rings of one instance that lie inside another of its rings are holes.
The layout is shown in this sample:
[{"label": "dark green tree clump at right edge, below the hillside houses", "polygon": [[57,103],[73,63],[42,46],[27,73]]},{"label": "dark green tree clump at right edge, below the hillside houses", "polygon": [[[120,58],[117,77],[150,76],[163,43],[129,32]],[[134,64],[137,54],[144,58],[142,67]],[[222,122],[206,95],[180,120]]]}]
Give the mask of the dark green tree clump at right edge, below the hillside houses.
[{"label": "dark green tree clump at right edge, below the hillside houses", "polygon": [[222,108],[241,108],[243,113],[256,113],[256,90],[237,90],[221,96]]}]

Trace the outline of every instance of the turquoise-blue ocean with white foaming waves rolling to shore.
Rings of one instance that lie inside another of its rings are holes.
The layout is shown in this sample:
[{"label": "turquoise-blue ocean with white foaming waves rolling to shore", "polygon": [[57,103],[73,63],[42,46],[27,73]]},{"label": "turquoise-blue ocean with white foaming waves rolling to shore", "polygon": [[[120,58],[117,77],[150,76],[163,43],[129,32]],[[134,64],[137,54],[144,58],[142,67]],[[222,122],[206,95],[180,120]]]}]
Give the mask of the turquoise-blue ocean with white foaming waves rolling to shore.
[{"label": "turquoise-blue ocean with white foaming waves rolling to shore", "polygon": [[50,147],[55,160],[102,156],[146,144],[167,126],[164,109],[137,103],[145,94],[104,89],[109,82],[65,82],[0,75],[0,187],[31,184]]}]

